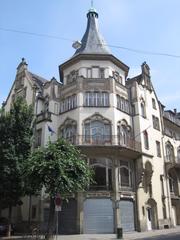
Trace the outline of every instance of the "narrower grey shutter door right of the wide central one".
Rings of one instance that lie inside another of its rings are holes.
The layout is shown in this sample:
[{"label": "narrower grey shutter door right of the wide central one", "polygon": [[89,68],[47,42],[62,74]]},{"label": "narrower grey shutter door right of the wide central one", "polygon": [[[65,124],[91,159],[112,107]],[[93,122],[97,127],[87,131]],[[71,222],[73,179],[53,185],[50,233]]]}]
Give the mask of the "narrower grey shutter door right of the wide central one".
[{"label": "narrower grey shutter door right of the wide central one", "polygon": [[120,221],[124,232],[134,231],[134,203],[121,200],[119,203]]}]

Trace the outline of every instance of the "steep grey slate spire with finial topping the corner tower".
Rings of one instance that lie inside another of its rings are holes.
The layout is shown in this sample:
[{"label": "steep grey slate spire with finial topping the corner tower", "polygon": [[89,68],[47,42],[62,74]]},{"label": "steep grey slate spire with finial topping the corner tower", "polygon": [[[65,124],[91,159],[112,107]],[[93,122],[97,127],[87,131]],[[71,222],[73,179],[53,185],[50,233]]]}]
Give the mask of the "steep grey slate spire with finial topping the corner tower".
[{"label": "steep grey slate spire with finial topping the corner tower", "polygon": [[98,13],[93,7],[91,1],[91,8],[87,13],[87,28],[81,40],[81,47],[75,52],[77,54],[111,54],[106,46],[106,42],[101,36],[98,28]]}]

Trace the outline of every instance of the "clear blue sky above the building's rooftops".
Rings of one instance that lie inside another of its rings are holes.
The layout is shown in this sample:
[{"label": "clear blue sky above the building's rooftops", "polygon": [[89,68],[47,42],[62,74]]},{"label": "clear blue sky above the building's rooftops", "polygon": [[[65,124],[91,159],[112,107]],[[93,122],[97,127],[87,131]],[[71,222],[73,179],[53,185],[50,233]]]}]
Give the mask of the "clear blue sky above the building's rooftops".
[{"label": "clear blue sky above the building's rooftops", "polygon": [[[146,61],[158,99],[166,109],[180,111],[180,0],[94,0],[93,5],[101,34],[117,46],[111,51],[130,67],[129,77]],[[72,43],[81,40],[90,7],[91,0],[0,0],[0,103],[23,57],[30,72],[59,80],[58,66],[74,54]]]}]

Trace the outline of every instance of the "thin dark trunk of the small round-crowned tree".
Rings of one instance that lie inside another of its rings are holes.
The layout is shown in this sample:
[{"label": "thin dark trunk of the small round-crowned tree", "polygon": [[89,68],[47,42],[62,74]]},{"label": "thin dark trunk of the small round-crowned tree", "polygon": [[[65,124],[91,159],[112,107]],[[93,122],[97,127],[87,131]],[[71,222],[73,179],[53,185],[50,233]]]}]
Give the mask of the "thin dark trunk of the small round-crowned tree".
[{"label": "thin dark trunk of the small round-crowned tree", "polygon": [[49,209],[49,218],[48,226],[45,234],[45,239],[49,240],[53,237],[55,232],[55,203],[54,198],[50,198],[50,209]]}]

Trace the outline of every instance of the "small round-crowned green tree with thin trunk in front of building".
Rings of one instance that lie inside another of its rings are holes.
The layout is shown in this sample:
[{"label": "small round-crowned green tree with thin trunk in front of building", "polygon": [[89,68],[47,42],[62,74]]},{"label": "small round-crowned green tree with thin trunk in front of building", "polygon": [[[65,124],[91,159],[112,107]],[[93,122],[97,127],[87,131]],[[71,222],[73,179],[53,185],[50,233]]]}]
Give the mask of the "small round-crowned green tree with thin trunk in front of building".
[{"label": "small round-crowned green tree with thin trunk in front of building", "polygon": [[92,181],[92,170],[77,147],[63,139],[49,142],[47,147],[35,149],[29,157],[25,176],[31,188],[37,191],[45,187],[50,198],[50,213],[46,238],[53,231],[55,196],[59,193],[64,199],[78,191],[84,191]]}]

